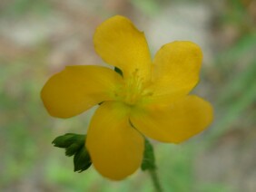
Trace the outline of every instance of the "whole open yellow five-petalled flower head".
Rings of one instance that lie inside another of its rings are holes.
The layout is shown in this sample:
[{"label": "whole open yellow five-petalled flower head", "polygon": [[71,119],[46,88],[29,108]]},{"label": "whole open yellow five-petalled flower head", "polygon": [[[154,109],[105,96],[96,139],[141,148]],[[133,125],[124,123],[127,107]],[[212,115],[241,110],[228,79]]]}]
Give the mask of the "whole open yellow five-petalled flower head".
[{"label": "whole open yellow five-petalled flower head", "polygon": [[113,16],[94,34],[96,52],[122,70],[67,66],[45,83],[44,106],[70,118],[103,102],[91,120],[85,146],[104,177],[123,179],[141,166],[143,135],[180,143],[212,122],[212,106],[188,95],[199,81],[202,51],[191,42],[167,43],[151,59],[144,34]]}]

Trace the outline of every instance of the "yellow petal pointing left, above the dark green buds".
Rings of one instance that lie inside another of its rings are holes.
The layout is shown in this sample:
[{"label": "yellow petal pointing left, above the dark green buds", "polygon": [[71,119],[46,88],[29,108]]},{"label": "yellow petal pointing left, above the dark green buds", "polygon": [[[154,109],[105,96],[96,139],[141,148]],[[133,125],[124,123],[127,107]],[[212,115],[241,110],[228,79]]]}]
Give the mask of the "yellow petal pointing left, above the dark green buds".
[{"label": "yellow petal pointing left, above the dark green buds", "polygon": [[41,98],[52,116],[69,118],[99,102],[112,100],[120,81],[120,75],[105,67],[68,66],[45,83]]}]

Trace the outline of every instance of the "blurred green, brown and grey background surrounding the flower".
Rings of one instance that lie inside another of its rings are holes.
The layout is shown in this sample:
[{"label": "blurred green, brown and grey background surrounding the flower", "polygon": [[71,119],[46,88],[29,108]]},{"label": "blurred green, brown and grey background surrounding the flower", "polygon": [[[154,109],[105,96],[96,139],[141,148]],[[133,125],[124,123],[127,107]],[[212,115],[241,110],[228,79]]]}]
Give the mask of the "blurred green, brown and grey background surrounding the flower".
[{"label": "blurred green, brown and grey background surrounding the flower", "polygon": [[152,55],[164,43],[190,40],[204,53],[193,91],[215,109],[209,130],[181,145],[154,142],[168,192],[256,191],[256,1],[1,0],[0,191],[153,191],[147,175],[113,182],[93,167],[73,171],[52,140],[84,134],[95,110],[50,117],[40,91],[70,64],[103,64],[94,29],[122,14],[144,31]]}]

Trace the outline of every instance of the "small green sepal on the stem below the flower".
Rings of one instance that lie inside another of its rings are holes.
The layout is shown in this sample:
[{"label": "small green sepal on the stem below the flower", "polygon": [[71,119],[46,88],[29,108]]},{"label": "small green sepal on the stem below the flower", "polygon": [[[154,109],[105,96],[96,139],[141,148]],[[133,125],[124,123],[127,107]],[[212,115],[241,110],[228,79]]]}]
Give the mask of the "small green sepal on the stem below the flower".
[{"label": "small green sepal on the stem below the flower", "polygon": [[155,169],[155,158],[153,153],[153,146],[148,139],[145,139],[145,149],[143,153],[142,170]]}]

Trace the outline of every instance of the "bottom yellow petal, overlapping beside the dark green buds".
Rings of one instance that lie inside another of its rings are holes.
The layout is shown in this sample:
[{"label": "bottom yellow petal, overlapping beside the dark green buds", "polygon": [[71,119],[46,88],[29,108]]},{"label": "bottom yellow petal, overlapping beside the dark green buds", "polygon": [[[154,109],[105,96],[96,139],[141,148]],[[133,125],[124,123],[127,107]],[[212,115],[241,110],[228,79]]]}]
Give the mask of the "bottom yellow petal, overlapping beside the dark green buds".
[{"label": "bottom yellow petal, overlapping beside the dark green buds", "polygon": [[125,108],[117,102],[103,102],[94,114],[86,138],[94,168],[114,180],[133,174],[143,159],[143,136],[131,127]]}]

